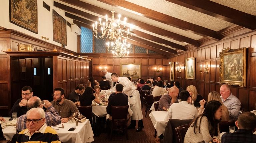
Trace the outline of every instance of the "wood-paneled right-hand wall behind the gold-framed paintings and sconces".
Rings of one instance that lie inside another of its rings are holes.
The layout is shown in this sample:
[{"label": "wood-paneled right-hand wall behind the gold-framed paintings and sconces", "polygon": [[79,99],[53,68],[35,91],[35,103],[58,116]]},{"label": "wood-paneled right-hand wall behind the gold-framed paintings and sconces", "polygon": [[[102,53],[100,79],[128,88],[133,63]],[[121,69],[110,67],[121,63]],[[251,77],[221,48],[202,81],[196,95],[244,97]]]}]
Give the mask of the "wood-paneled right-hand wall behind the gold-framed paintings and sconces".
[{"label": "wood-paneled right-hand wall behind the gold-framed paintings and sconces", "polygon": [[[230,47],[237,49],[247,47],[247,83],[246,87],[232,86],[231,92],[242,103],[241,109],[251,111],[256,103],[256,31],[246,34],[233,36],[215,43],[209,43],[198,49],[190,50],[169,59],[172,62],[178,62],[183,66],[181,73],[175,72],[175,80],[181,83],[183,89],[189,85],[194,85],[200,95],[207,100],[211,91],[220,90],[219,84],[219,52],[222,49]],[[195,80],[185,78],[185,58],[196,57]],[[200,73],[200,65],[208,63],[210,71],[208,74]],[[178,66],[178,64],[176,65]]]}]

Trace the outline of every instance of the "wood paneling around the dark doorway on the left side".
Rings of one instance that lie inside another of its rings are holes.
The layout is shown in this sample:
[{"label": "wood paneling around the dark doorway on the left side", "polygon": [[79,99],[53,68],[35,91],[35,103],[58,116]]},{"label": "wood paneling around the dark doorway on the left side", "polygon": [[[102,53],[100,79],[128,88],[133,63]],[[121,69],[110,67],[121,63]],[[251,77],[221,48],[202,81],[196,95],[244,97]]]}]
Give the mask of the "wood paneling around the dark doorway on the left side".
[{"label": "wood paneling around the dark doorway on the left side", "polygon": [[[65,89],[65,94],[73,91],[77,84],[84,83],[88,81],[88,69],[89,69],[89,60],[82,59],[76,56],[69,55],[69,53],[73,53],[74,55],[78,55],[76,52],[71,50],[56,46],[44,40],[40,40],[34,38],[32,36],[20,33],[15,30],[5,29],[0,27],[0,112],[1,116],[8,116],[8,111],[12,107],[12,101],[20,98],[20,90],[17,89],[15,93],[12,93],[12,78],[20,80],[25,79],[29,81],[29,76],[23,75],[24,73],[17,73],[16,76],[20,77],[11,77],[11,60],[10,55],[6,54],[3,51],[7,51],[7,49],[11,49],[12,51],[18,51],[18,44],[31,44],[37,47],[37,49],[46,49],[52,51],[53,49],[58,49],[58,52],[42,52],[42,55],[38,54],[40,52],[34,52],[38,55],[33,55],[33,52],[26,53],[26,55],[18,55],[23,56],[24,59],[27,60],[20,62],[20,64],[28,64],[28,65],[17,65],[17,66],[29,66],[31,64],[30,59],[25,59],[27,57],[51,57],[53,58],[53,88],[63,87]],[[62,53],[65,52],[65,53]],[[43,55],[44,54],[44,55]],[[49,55],[47,55],[49,54]],[[33,72],[26,72],[26,74],[33,74]],[[15,75],[15,74],[13,74]],[[31,81],[31,80],[30,80]],[[49,82],[49,81],[48,81]],[[23,86],[27,83],[18,84],[17,81],[14,81],[14,86]],[[40,83],[41,84],[41,83]],[[21,87],[22,88],[22,87]],[[51,89],[52,90],[52,89]],[[52,91],[51,91],[52,93]],[[15,96],[13,95],[15,94]]]}]

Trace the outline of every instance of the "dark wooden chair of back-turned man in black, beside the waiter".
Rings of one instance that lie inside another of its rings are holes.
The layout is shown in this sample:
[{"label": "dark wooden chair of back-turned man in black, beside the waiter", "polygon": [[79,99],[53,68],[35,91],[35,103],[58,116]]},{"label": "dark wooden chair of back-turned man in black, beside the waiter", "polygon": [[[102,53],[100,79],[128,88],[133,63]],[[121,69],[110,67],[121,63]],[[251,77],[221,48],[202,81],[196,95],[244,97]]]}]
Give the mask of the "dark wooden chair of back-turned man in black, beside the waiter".
[{"label": "dark wooden chair of back-turned man in black, beside the waiter", "polygon": [[112,112],[112,125],[111,125],[111,132],[110,132],[110,141],[113,137],[113,130],[123,130],[126,134],[126,139],[128,140],[128,134],[126,129],[126,123],[127,123],[127,113],[128,113],[128,107],[127,106],[111,106],[111,112]]}]

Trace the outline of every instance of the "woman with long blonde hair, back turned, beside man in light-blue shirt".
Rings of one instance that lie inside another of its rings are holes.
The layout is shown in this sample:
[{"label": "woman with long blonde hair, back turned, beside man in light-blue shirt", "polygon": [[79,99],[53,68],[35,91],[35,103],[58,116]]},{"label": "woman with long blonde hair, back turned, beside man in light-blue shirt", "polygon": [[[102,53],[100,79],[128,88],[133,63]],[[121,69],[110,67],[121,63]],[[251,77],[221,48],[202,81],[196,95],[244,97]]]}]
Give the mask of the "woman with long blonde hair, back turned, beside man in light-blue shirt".
[{"label": "woman with long blonde hair, back turned, beside man in light-blue shirt", "polygon": [[[223,102],[220,99],[220,94],[216,91],[212,91],[208,94],[208,102],[212,101],[212,100],[216,100],[219,101],[222,104],[222,115],[221,115],[221,120],[222,121],[229,121],[229,112],[228,112],[228,108],[223,104]],[[201,100],[200,102],[200,109],[198,114],[202,113],[202,110],[204,109],[204,104],[205,104],[205,100]]]}]

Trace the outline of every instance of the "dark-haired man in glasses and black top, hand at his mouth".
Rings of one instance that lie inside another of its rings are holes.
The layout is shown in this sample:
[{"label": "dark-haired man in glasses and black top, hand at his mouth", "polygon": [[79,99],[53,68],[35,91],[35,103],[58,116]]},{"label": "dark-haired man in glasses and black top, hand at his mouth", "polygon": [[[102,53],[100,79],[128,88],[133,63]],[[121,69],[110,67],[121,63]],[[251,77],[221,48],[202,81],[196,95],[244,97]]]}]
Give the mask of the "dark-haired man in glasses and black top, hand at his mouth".
[{"label": "dark-haired man in glasses and black top, hand at his mouth", "polygon": [[33,90],[30,86],[24,86],[21,89],[21,97],[20,99],[18,99],[12,109],[9,112],[9,116],[12,117],[12,112],[17,112],[17,117],[26,114],[26,112],[28,111],[27,109],[27,101],[33,96]]}]

